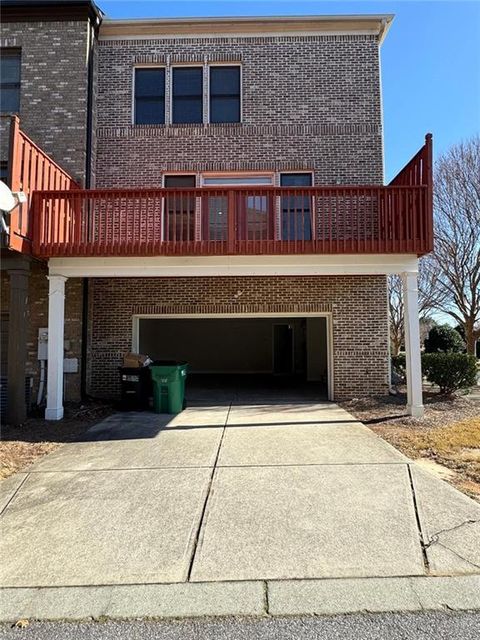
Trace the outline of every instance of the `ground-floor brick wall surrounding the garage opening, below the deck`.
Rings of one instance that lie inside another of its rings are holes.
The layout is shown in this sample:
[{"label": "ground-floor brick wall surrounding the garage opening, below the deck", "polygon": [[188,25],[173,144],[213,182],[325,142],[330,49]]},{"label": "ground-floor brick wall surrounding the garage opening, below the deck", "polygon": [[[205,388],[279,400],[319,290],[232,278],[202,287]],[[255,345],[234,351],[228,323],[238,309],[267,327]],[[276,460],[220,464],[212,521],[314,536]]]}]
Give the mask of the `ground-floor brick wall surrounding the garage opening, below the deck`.
[{"label": "ground-floor brick wall surrounding the garage opening, below the deck", "polygon": [[[335,398],[387,391],[384,276],[105,278],[91,281],[90,393],[118,393],[136,313],[294,313],[333,317]],[[242,292],[238,298],[235,294]]]}]

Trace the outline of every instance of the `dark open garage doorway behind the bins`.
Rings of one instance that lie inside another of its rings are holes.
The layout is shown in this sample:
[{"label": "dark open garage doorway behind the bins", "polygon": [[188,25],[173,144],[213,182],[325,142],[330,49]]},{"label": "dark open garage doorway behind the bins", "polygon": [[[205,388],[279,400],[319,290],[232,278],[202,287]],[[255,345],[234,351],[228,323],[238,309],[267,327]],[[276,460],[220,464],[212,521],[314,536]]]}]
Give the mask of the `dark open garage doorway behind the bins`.
[{"label": "dark open garage doorway behind the bins", "polygon": [[187,397],[206,388],[328,397],[325,317],[141,317],[136,333],[140,353],[189,363]]}]

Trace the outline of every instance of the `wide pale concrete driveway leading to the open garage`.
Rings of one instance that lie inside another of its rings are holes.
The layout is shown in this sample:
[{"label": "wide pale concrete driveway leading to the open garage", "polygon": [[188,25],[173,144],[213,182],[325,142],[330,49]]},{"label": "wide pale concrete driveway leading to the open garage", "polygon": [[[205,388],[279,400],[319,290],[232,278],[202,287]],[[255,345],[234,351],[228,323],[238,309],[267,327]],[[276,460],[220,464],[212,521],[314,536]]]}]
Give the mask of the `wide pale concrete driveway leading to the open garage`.
[{"label": "wide pale concrete driveway leading to the open garage", "polygon": [[480,506],[331,403],[116,414],[0,488],[7,591],[480,572]]}]

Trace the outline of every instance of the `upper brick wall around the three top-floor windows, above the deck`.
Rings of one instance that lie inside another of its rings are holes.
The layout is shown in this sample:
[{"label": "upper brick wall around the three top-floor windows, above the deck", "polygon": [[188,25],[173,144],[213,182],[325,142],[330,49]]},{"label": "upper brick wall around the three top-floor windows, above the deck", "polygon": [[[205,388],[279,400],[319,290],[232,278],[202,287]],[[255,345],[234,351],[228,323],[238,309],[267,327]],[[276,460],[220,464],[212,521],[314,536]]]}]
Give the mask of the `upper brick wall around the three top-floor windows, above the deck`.
[{"label": "upper brick wall around the three top-floor windows, above the deck", "polygon": [[[132,124],[136,65],[165,66],[168,80],[172,65],[204,65],[206,78],[216,62],[242,66],[241,123]],[[313,170],[315,184],[382,183],[374,35],[103,40],[98,64],[98,187],[159,187],[168,171]]]}]

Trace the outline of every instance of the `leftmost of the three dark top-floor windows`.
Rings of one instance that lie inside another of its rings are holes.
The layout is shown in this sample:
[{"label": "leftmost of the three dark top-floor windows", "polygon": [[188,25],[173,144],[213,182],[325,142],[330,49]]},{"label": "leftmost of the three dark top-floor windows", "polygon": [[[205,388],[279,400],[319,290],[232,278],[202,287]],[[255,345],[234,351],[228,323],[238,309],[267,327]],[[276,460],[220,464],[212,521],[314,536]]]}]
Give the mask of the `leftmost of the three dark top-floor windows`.
[{"label": "leftmost of the three dark top-floor windows", "polygon": [[135,69],[135,124],[165,124],[165,69]]}]

